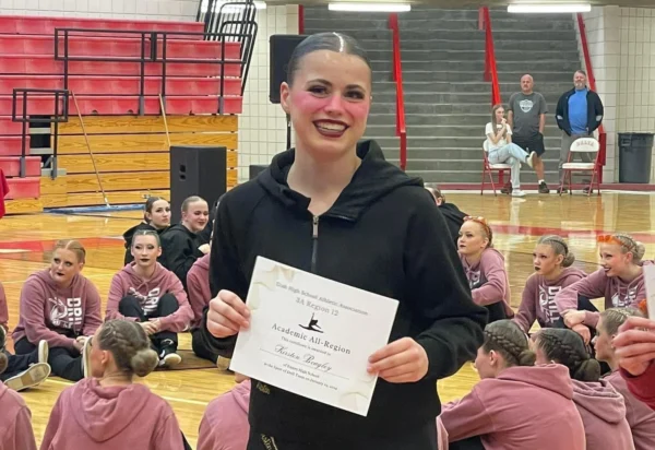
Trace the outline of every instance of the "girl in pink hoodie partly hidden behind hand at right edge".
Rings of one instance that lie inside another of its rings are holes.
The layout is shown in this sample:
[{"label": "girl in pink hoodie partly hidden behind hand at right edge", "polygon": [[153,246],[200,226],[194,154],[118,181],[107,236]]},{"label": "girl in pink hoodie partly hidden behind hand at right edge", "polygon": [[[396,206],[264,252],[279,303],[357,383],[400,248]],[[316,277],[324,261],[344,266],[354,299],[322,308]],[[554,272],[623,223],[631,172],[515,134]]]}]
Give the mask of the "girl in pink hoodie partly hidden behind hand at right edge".
[{"label": "girl in pink hoodie partly hidden behind hand at right edge", "polygon": [[634,448],[636,450],[653,450],[655,449],[655,411],[638,400],[628,389],[626,380],[619,372],[619,359],[612,344],[614,339],[619,333],[619,327],[626,323],[628,318],[641,316],[640,311],[632,308],[610,308],[600,312],[594,345],[596,358],[607,363],[611,368],[611,372],[605,379],[626,400],[626,418],[632,430]]}]

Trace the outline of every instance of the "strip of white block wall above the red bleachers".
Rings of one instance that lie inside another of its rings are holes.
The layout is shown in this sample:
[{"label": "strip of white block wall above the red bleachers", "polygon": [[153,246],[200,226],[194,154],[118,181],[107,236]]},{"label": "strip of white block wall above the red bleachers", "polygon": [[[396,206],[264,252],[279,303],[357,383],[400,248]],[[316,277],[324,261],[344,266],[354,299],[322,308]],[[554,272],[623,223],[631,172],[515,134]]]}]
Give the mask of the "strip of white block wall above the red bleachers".
[{"label": "strip of white block wall above the red bleachers", "polygon": [[0,14],[195,20],[200,0],[0,0]]}]

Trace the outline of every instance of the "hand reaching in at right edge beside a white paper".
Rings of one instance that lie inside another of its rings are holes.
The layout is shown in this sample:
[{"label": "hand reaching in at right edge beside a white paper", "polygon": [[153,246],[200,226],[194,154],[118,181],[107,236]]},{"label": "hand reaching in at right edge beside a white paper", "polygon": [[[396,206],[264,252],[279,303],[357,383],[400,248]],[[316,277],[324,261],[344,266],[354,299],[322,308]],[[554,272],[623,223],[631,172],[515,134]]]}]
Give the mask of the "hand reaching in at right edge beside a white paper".
[{"label": "hand reaching in at right edge beside a white paper", "polygon": [[619,365],[634,377],[646,371],[655,359],[655,321],[630,317],[612,340]]}]

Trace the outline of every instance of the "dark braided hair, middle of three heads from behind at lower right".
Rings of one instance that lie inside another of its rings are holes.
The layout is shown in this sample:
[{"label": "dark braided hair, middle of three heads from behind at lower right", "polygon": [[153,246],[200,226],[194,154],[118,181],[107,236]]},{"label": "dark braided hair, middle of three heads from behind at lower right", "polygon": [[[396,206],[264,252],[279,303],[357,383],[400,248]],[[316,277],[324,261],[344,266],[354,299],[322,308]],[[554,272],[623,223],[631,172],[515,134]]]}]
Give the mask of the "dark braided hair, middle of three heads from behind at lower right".
[{"label": "dark braided hair, middle of three heads from behind at lower right", "polygon": [[575,331],[545,328],[537,333],[535,343],[548,359],[567,366],[572,379],[600,379],[600,364],[590,356],[582,336]]}]

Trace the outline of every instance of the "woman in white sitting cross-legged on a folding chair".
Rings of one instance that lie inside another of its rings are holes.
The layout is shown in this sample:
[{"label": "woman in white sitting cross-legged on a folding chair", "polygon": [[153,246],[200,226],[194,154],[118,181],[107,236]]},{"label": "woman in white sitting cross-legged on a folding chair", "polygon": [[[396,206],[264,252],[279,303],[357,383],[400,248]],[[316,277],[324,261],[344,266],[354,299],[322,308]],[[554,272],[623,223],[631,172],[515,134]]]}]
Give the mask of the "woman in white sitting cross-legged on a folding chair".
[{"label": "woman in white sitting cross-legged on a folding chair", "polygon": [[502,105],[495,105],[491,110],[491,121],[485,128],[487,135],[487,158],[489,164],[509,164],[512,177],[512,196],[525,197],[521,190],[521,163],[534,166],[535,152],[529,155],[519,145],[512,143],[512,129],[504,117]]}]

